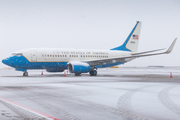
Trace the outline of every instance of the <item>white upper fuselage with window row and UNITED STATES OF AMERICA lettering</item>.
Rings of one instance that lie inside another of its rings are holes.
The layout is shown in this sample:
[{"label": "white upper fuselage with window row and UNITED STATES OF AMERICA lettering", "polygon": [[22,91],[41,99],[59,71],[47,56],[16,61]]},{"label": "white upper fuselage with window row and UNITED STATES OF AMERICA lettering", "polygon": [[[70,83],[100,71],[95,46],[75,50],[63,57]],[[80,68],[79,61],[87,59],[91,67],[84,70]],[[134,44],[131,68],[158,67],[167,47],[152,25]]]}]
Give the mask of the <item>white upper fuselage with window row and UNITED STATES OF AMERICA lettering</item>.
[{"label": "white upper fuselage with window row and UNITED STATES OF AMERICA lettering", "polygon": [[69,62],[125,57],[131,55],[131,52],[115,50],[41,48],[21,50],[14,52],[13,54],[23,54],[29,62]]}]

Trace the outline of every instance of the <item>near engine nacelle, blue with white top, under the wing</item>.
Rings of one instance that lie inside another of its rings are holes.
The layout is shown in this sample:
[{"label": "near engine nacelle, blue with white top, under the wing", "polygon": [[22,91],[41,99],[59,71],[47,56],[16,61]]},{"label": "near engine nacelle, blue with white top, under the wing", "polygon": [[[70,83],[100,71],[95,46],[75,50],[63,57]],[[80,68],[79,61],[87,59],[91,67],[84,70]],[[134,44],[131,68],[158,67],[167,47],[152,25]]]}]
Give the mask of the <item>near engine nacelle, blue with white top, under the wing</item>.
[{"label": "near engine nacelle, blue with white top, under the wing", "polygon": [[87,73],[91,70],[91,66],[84,62],[69,62],[68,70],[70,73]]}]

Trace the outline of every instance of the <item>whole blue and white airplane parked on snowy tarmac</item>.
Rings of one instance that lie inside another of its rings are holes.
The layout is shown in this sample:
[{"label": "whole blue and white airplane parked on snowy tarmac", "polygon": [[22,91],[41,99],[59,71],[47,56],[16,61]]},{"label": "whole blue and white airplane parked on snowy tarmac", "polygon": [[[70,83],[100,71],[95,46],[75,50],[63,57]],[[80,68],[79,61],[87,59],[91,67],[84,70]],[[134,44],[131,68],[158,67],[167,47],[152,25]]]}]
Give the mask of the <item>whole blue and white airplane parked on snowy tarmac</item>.
[{"label": "whole blue and white airplane parked on snowy tarmac", "polygon": [[137,52],[141,24],[137,21],[125,42],[110,50],[34,48],[14,52],[11,57],[3,59],[2,63],[22,71],[23,76],[28,76],[27,70],[30,69],[46,69],[47,72],[63,72],[68,69],[75,76],[88,72],[90,76],[96,76],[98,68],[117,66],[139,57],[169,54],[173,50],[177,38],[164,52],[159,52],[164,49]]}]

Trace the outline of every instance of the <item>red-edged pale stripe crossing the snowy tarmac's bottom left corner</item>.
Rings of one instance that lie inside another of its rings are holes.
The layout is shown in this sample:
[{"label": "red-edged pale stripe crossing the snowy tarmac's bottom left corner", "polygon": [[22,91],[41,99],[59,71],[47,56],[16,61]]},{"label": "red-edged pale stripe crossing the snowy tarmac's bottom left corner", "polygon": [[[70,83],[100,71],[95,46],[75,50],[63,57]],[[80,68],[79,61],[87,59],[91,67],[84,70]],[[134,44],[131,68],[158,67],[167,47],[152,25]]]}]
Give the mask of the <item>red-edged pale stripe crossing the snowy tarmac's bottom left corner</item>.
[{"label": "red-edged pale stripe crossing the snowy tarmac's bottom left corner", "polygon": [[[46,115],[44,113],[41,113],[39,111],[33,110],[31,108],[25,107],[23,105],[20,105],[18,103],[12,102],[10,100],[7,100],[5,98],[0,97],[0,102],[2,102],[5,106],[10,107],[15,113],[23,113],[25,117],[28,117],[28,119],[34,119],[34,118],[29,118],[31,115],[32,117],[37,118],[43,118],[47,120],[60,120],[58,118],[54,118],[52,116]],[[28,114],[29,113],[29,114]]]}]

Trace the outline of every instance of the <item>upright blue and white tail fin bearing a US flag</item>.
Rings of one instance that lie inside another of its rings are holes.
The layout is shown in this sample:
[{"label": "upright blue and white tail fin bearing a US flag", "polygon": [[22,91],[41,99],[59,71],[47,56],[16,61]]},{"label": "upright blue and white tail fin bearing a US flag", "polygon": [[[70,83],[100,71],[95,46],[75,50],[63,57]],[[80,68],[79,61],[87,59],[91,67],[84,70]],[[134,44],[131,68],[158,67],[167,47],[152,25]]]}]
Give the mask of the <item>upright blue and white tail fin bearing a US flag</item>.
[{"label": "upright blue and white tail fin bearing a US flag", "polygon": [[130,52],[137,52],[138,44],[139,44],[139,37],[140,37],[140,30],[141,30],[141,22],[137,21],[136,25],[134,26],[133,30],[127,37],[126,41],[123,45],[113,48],[111,50],[121,50],[121,51],[130,51]]}]

